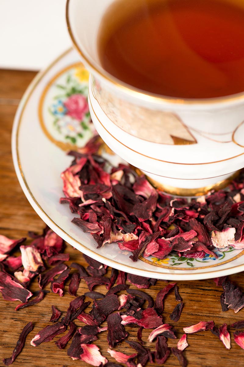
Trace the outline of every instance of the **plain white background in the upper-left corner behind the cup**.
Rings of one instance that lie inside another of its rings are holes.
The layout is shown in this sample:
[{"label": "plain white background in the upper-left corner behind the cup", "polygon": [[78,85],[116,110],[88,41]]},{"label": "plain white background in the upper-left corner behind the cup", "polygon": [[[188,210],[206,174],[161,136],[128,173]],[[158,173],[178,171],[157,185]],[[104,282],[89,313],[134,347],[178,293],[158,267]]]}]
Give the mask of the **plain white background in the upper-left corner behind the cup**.
[{"label": "plain white background in the upper-left corner behind the cup", "polygon": [[0,68],[39,70],[71,46],[66,0],[0,0]]}]

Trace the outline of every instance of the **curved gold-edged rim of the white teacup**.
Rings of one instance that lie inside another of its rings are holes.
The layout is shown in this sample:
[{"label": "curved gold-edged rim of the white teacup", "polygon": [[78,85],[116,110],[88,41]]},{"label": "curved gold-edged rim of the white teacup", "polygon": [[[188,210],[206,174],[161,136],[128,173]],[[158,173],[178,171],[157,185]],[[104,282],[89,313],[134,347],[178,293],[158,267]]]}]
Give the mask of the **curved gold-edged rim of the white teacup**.
[{"label": "curved gold-edged rim of the white teacup", "polygon": [[223,97],[215,97],[215,98],[177,98],[177,97],[167,97],[164,95],[158,95],[154,93],[150,93],[147,91],[140,90],[136,87],[130,86],[129,84],[123,83],[121,80],[115,78],[110,73],[106,72],[103,68],[103,72],[97,68],[97,66],[90,61],[85,55],[84,52],[81,50],[80,46],[78,45],[75,36],[72,32],[71,28],[71,22],[69,17],[69,5],[71,0],[66,1],[66,23],[67,23],[67,29],[71,38],[71,41],[73,43],[73,46],[76,48],[76,50],[79,52],[82,60],[86,65],[88,65],[89,69],[92,70],[96,75],[99,75],[102,79],[106,80],[107,82],[110,82],[113,86],[116,88],[119,88],[121,92],[125,94],[132,95],[132,97],[143,99],[148,102],[154,102],[154,103],[173,103],[178,105],[208,105],[208,104],[218,104],[218,103],[226,103],[226,102],[239,102],[242,99],[244,100],[244,91],[227,95]]}]

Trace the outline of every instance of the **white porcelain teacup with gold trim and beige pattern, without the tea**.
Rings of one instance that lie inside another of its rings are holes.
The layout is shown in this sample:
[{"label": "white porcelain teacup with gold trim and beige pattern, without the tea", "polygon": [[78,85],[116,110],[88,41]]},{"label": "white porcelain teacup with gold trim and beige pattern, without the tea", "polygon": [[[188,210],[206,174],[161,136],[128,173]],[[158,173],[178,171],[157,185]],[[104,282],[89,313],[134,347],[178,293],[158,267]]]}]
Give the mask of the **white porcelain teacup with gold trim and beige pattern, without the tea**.
[{"label": "white porcelain teacup with gold trim and beige pattern, without the tea", "polygon": [[99,61],[97,34],[114,0],[67,0],[74,46],[90,71],[89,107],[107,145],[175,195],[221,188],[244,167],[244,93],[209,99],[161,97],[129,86]]}]

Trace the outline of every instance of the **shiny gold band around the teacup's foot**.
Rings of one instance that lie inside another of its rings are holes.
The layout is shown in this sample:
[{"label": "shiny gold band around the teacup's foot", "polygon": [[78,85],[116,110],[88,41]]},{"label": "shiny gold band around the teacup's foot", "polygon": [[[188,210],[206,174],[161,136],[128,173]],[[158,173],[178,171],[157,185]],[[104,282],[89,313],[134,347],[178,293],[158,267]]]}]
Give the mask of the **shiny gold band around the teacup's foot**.
[{"label": "shiny gold band around the teacup's foot", "polygon": [[[133,167],[133,168],[138,175],[144,174],[139,168],[136,168],[136,167]],[[147,175],[146,177],[152,186],[154,186],[156,189],[159,189],[165,192],[166,194],[174,195],[174,196],[203,196],[203,195],[206,195],[211,190],[218,191],[218,190],[224,189],[239,174],[240,174],[240,170],[234,172],[230,177],[226,178],[225,180],[218,181],[217,183],[214,183],[213,185],[208,185],[208,186],[200,187],[196,189],[185,189],[185,188],[177,188],[177,187],[170,186],[170,185],[164,185],[163,183],[157,182]]]}]

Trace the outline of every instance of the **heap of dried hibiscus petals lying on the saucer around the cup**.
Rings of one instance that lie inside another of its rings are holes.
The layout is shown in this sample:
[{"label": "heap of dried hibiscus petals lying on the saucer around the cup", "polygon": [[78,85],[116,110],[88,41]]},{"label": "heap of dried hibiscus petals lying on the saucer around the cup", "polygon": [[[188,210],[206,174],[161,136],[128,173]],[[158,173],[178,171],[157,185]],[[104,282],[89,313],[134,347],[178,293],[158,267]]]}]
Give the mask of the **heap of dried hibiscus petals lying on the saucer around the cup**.
[{"label": "heap of dried hibiscus petals lying on the saucer around the cup", "polygon": [[98,246],[117,242],[130,258],[153,255],[164,259],[210,254],[214,248],[244,248],[244,171],[226,190],[197,199],[172,198],[150,185],[129,166],[113,167],[100,155],[97,137],[78,152],[62,172],[65,197],[72,222],[90,232]]}]

